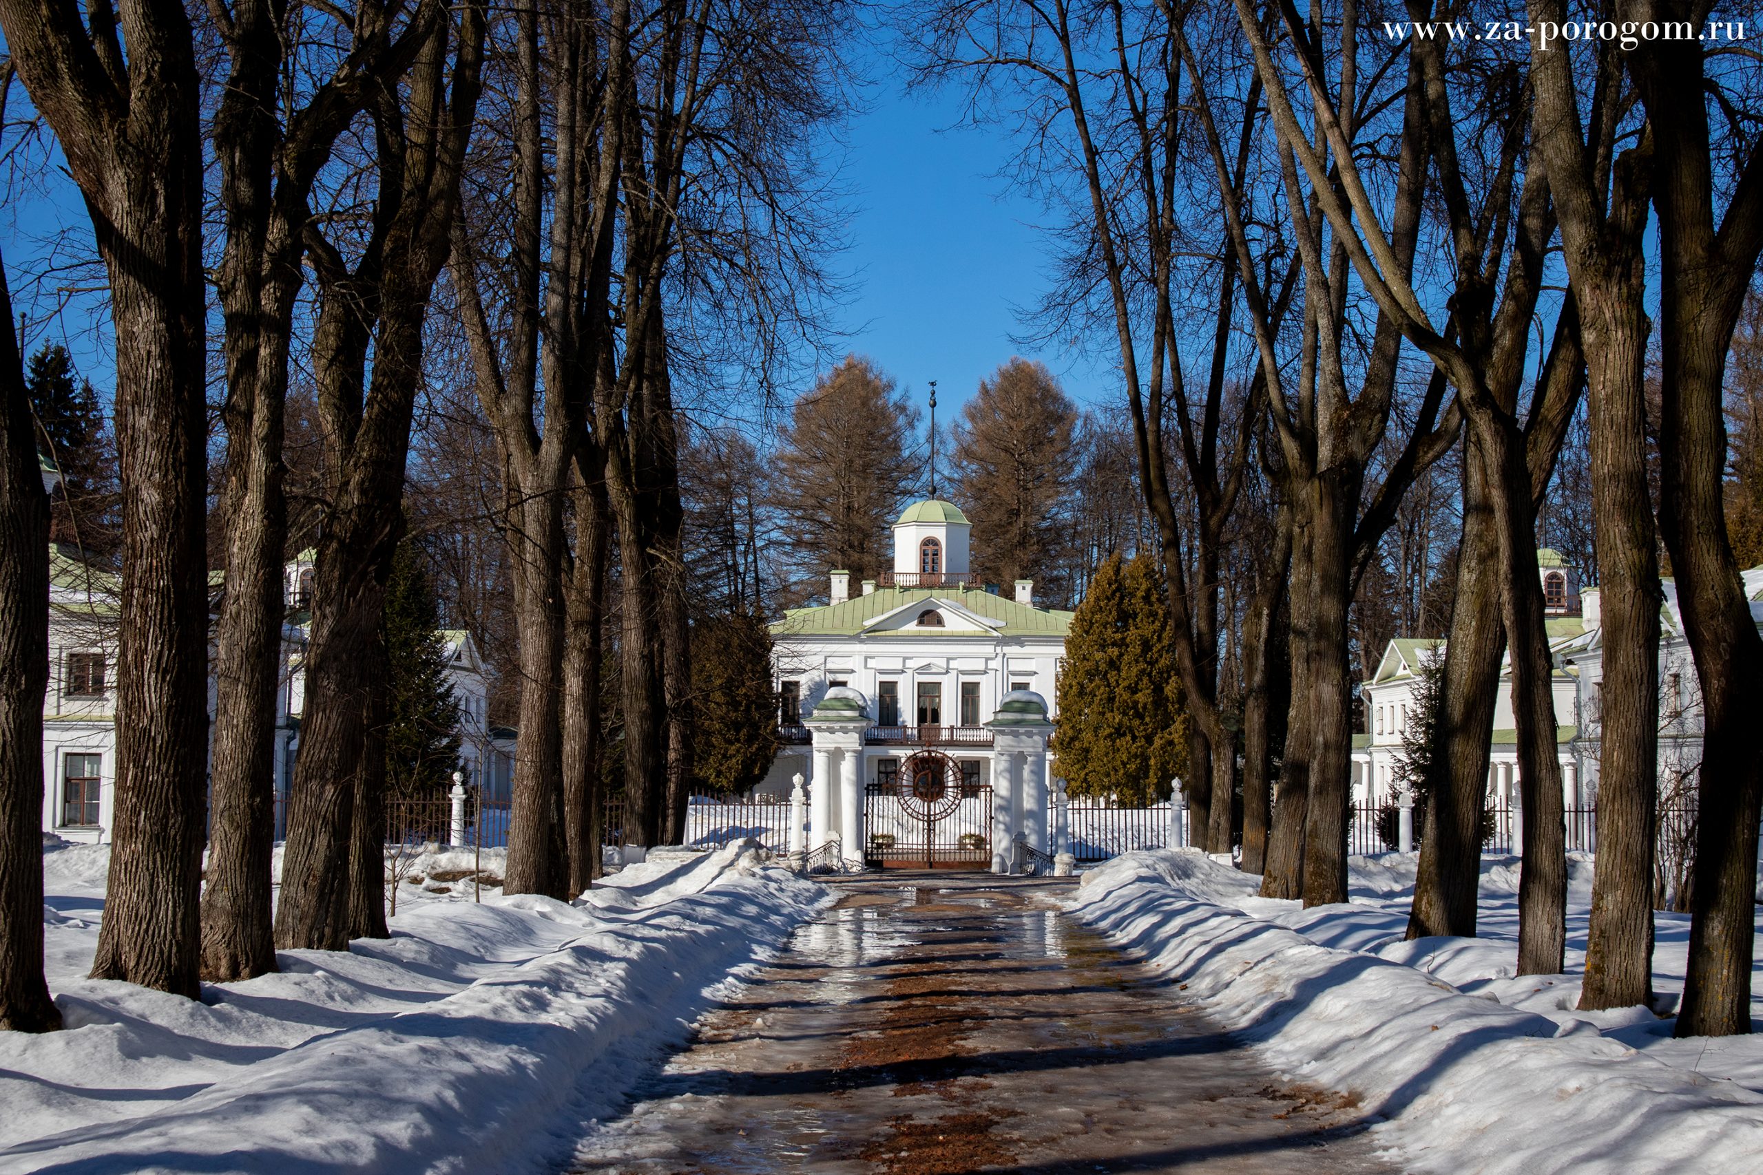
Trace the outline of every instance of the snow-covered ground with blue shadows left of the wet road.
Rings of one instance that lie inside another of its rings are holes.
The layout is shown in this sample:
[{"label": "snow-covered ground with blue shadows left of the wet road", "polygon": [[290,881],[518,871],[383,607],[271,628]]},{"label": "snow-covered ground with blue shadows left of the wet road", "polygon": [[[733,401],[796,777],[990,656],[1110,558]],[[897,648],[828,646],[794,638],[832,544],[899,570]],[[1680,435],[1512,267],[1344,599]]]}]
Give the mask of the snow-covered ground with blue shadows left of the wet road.
[{"label": "snow-covered ground with blue shadows left of the wet road", "polygon": [[83,978],[108,854],[44,856],[67,1031],[0,1032],[4,1171],[547,1170],[829,900],[744,846],[631,867],[575,904],[474,902],[472,854],[428,854],[390,939],[282,951],[280,974],[192,1002]]}]

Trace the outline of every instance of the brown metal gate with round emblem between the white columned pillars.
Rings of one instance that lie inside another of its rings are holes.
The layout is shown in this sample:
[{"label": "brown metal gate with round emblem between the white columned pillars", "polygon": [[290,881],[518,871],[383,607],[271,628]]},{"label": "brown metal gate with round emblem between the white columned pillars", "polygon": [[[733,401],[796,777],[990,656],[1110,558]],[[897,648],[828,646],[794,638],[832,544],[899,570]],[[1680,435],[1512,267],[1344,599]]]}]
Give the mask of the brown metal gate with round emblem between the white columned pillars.
[{"label": "brown metal gate with round emblem between the white columned pillars", "polygon": [[991,787],[964,786],[961,765],[920,750],[864,789],[864,831],[876,868],[989,868]]}]

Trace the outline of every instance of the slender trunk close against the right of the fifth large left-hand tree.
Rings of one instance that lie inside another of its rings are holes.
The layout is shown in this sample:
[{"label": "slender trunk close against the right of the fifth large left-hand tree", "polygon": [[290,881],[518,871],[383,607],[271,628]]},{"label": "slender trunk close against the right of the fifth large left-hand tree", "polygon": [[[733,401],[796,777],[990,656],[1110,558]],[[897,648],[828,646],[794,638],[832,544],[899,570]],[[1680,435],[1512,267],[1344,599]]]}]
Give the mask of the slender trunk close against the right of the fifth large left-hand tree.
[{"label": "slender trunk close against the right of the fifth large left-hand tree", "polygon": [[[598,477],[598,462],[584,462],[584,479]],[[575,565],[568,592],[568,643],[564,650],[562,800],[569,847],[569,893],[577,895],[599,877],[599,754],[601,754],[601,659],[606,599],[606,557],[612,518],[603,481],[575,488]]]}]

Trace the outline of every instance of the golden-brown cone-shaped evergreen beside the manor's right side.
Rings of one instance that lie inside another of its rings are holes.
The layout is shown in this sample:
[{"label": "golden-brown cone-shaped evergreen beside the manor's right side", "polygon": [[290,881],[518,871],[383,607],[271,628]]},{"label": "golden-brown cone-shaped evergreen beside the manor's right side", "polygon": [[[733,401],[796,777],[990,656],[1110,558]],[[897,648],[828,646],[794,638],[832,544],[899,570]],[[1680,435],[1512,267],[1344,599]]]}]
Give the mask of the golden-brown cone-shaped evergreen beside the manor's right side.
[{"label": "golden-brown cone-shaped evergreen beside the manor's right side", "polygon": [[1111,557],[1072,617],[1053,749],[1074,796],[1169,798],[1188,717],[1155,558]]}]

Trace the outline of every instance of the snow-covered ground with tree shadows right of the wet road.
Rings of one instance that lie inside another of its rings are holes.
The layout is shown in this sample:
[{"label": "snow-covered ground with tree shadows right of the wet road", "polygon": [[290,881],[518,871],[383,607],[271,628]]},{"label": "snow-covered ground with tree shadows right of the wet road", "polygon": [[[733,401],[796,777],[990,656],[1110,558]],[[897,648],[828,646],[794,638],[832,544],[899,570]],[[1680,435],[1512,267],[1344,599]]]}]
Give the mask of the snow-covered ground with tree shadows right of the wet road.
[{"label": "snow-covered ground with tree shadows right of the wet road", "polygon": [[[1516,861],[1483,865],[1484,937],[1403,942],[1414,863],[1352,858],[1352,902],[1305,911],[1204,854],[1132,853],[1086,874],[1072,907],[1282,1073],[1356,1097],[1409,1168],[1763,1170],[1763,1036],[1678,1041],[1647,1008],[1573,1009],[1590,858],[1571,863],[1567,974],[1521,979]],[[1657,927],[1654,985],[1675,1004],[1689,916]],[[1752,1008],[1763,1018],[1763,999]]]}]

